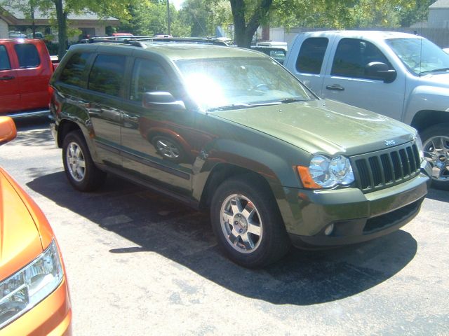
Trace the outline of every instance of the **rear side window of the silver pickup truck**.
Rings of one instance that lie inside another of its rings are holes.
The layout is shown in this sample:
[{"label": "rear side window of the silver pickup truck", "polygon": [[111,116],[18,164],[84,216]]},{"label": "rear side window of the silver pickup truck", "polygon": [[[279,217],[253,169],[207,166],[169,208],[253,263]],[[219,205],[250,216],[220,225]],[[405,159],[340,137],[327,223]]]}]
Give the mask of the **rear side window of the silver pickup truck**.
[{"label": "rear side window of the silver pickup truck", "polygon": [[297,71],[319,74],[328,43],[326,37],[311,37],[302,42],[300,55],[296,60]]}]

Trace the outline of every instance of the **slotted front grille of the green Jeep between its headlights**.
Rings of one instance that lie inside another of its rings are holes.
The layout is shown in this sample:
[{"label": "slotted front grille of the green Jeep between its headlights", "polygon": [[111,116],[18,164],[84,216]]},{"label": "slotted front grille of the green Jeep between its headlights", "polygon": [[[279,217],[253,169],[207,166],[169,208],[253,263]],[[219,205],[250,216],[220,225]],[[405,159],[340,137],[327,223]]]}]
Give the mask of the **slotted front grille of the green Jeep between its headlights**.
[{"label": "slotted front grille of the green Jeep between its headlights", "polygon": [[405,144],[351,158],[358,188],[364,193],[402,183],[420,173],[415,144]]}]

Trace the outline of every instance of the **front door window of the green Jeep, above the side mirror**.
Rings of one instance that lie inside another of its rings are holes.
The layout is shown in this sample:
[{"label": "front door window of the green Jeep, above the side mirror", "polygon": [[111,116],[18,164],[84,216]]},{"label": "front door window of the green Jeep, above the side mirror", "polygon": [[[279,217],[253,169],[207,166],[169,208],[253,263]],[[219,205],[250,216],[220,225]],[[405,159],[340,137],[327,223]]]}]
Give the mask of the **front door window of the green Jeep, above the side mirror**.
[{"label": "front door window of the green Jeep, above the side mirror", "polygon": [[166,91],[173,93],[173,85],[162,67],[148,59],[136,59],[131,79],[130,100],[141,102],[142,95],[150,91]]}]

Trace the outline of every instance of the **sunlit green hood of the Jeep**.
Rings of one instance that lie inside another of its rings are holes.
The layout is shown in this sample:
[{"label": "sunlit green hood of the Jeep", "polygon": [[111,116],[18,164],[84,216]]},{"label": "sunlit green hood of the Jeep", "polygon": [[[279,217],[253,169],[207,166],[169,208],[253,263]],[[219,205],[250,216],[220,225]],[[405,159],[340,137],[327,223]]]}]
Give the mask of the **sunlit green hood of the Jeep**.
[{"label": "sunlit green hood of the Jeep", "polygon": [[377,113],[332,100],[316,100],[232,111],[223,118],[269,134],[309,153],[357,155],[413,140],[415,130]]}]

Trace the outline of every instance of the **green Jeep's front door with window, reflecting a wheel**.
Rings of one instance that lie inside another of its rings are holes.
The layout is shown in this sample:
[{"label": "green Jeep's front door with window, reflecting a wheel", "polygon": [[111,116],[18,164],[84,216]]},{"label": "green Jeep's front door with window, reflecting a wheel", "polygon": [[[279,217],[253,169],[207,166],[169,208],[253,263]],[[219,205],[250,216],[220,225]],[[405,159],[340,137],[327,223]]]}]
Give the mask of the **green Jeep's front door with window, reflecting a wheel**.
[{"label": "green Jeep's front door with window, reflecting a wheel", "polygon": [[191,111],[145,107],[145,92],[180,92],[168,68],[150,59],[136,58],[130,92],[123,108],[121,146],[123,167],[140,179],[188,196],[192,191],[194,114]]}]

